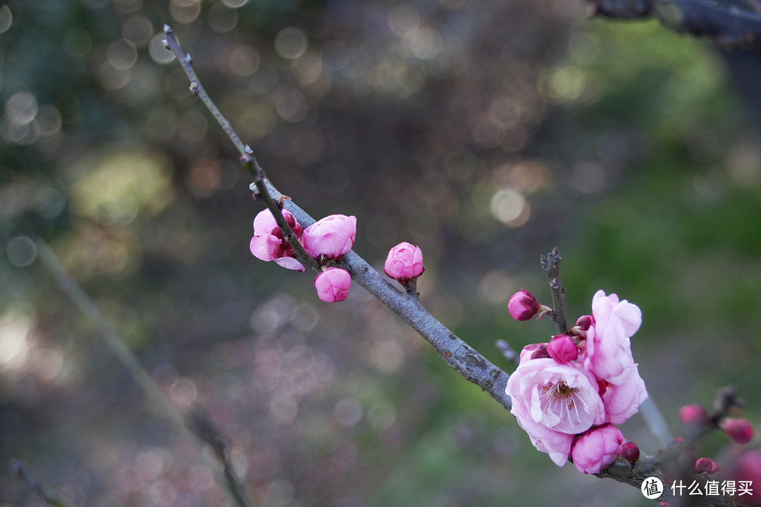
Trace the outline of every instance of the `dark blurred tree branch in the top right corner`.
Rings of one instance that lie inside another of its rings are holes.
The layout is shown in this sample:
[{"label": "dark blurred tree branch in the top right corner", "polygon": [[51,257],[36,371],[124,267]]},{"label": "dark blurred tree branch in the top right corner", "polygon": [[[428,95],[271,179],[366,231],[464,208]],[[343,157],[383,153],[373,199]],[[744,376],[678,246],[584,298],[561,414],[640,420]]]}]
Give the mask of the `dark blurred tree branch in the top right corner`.
[{"label": "dark blurred tree branch in the top right corner", "polygon": [[708,0],[586,0],[590,16],[654,17],[678,33],[707,36],[725,49],[761,49],[761,14]]}]

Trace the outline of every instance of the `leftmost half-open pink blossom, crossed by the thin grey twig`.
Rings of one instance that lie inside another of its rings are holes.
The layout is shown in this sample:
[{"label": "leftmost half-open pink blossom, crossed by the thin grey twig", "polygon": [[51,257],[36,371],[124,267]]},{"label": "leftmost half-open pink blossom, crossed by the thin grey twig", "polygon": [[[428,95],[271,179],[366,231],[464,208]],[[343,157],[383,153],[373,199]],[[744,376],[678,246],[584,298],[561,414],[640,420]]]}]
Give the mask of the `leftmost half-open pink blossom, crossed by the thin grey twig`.
[{"label": "leftmost half-open pink blossom, crossed by the thin grey twig", "polygon": [[[290,211],[283,210],[282,213],[298,239],[302,233],[301,225]],[[304,266],[296,259],[293,249],[285,241],[282,230],[269,210],[260,211],[253,219],[253,238],[249,248],[256,258],[263,261],[275,261],[283,268],[304,271]]]}]

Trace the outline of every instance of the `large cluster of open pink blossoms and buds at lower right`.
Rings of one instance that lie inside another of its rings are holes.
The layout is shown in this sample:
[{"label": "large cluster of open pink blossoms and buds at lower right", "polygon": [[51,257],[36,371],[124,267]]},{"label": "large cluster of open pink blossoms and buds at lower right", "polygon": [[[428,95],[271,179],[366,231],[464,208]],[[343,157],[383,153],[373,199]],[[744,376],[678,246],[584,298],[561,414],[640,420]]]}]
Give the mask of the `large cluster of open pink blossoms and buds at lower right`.
[{"label": "large cluster of open pink blossoms and buds at lower right", "polygon": [[[508,311],[527,320],[549,308],[521,289]],[[600,290],[592,315],[579,318],[568,334],[521,351],[505,388],[511,412],[559,467],[571,458],[581,474],[596,474],[624,452],[626,440],[614,425],[632,417],[648,397],[629,341],[641,323],[637,306]]]}]

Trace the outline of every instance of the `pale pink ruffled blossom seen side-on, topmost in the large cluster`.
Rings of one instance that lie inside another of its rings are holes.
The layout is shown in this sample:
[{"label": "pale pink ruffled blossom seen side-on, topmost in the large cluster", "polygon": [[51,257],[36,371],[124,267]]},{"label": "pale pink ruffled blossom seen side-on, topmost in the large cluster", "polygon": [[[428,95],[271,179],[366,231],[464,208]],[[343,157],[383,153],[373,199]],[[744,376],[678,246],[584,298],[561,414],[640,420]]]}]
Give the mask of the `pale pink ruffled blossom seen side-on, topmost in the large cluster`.
[{"label": "pale pink ruffled blossom seen side-on, topmost in the large cluster", "polygon": [[606,296],[598,290],[592,299],[594,326],[587,330],[584,366],[597,379],[622,384],[635,367],[629,337],[642,323],[640,309],[616,294]]}]

